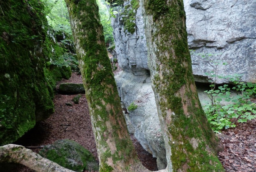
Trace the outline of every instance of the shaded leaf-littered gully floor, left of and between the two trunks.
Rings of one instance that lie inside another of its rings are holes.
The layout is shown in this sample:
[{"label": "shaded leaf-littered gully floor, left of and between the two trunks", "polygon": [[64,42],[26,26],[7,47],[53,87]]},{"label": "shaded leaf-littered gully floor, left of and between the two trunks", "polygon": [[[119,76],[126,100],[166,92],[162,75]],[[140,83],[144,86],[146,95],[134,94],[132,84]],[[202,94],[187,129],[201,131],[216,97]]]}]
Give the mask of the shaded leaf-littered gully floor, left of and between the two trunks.
[{"label": "shaded leaf-littered gully floor, left of and between the two trunks", "polygon": [[[82,83],[81,75],[72,73],[69,80],[62,80],[60,83]],[[54,97],[55,112],[45,121],[38,122],[36,126],[26,133],[14,144],[23,146],[41,146],[52,144],[56,140],[70,139],[78,142],[84,148],[88,149],[98,161],[97,149],[92,132],[91,119],[85,95],[83,95],[79,104],[72,102],[76,95],[57,94]],[[67,106],[66,103],[72,106]],[[70,125],[70,126],[66,126]],[[142,164],[150,169],[157,170],[156,158],[145,151],[140,143],[131,135],[132,142],[136,148],[138,157]],[[33,149],[38,153],[40,149]],[[19,165],[12,170],[13,172],[32,172],[29,168]]]}]

